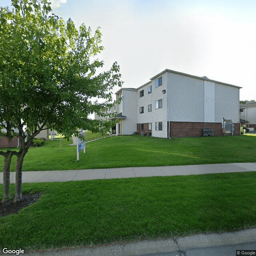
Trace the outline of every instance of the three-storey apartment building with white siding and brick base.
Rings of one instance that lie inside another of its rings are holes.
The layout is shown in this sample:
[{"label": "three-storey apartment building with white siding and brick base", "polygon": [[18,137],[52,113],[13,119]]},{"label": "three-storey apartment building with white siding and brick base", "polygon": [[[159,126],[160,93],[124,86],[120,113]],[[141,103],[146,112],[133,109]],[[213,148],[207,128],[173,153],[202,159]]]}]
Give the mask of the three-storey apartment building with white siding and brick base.
[{"label": "three-storey apartment building with white siding and brick base", "polygon": [[136,89],[116,92],[116,98],[122,97],[110,110],[118,113],[116,134],[202,136],[203,128],[217,136],[240,134],[240,88],[166,69]]}]

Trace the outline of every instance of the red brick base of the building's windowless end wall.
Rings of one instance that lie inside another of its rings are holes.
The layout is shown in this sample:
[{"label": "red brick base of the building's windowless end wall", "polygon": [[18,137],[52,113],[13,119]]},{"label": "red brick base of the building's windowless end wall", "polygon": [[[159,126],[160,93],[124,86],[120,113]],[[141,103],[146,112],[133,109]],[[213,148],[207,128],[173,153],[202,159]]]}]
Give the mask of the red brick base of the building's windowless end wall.
[{"label": "red brick base of the building's windowless end wall", "polygon": [[[204,122],[170,122],[170,136],[175,137],[200,137],[203,136],[203,128],[212,128],[214,136],[223,136],[221,123]],[[234,125],[234,135],[240,134],[240,124]],[[226,136],[231,135],[226,134]]]}]

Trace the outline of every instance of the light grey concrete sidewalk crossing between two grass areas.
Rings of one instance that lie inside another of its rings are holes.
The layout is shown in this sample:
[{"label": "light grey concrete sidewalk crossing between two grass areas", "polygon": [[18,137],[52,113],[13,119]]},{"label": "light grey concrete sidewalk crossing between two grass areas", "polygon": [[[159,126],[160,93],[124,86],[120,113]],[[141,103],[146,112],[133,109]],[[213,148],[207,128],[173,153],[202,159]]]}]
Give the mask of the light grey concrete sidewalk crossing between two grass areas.
[{"label": "light grey concrete sidewalk crossing between two grass areas", "polygon": [[[202,164],[160,167],[127,167],[110,169],[31,171],[22,172],[22,182],[63,182],[72,180],[95,180],[111,178],[134,178],[150,176],[175,176],[191,174],[210,174],[224,172],[256,171],[255,163]],[[10,173],[10,182],[15,183],[15,172]],[[3,183],[3,175],[0,175]]]}]

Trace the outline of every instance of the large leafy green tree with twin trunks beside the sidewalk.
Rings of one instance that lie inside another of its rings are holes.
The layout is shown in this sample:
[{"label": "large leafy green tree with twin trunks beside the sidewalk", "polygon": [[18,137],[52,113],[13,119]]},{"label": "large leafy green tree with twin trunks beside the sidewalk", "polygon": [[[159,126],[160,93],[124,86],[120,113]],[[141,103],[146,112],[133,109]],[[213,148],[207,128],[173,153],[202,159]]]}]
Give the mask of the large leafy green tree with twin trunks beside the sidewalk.
[{"label": "large leafy green tree with twin trunks beside the sidewalk", "polygon": [[[52,14],[48,0],[12,0],[0,9],[0,136],[19,138],[20,148],[4,156],[4,194],[8,199],[10,162],[16,162],[14,201],[22,199],[22,164],[32,138],[44,126],[65,136],[77,128],[108,129],[112,121],[90,120],[93,112],[106,116],[110,90],[121,86],[119,66],[96,75],[103,61],[101,33],[82,24],[76,29]],[[93,99],[101,98],[98,103]],[[111,103],[112,102],[112,103]]]}]

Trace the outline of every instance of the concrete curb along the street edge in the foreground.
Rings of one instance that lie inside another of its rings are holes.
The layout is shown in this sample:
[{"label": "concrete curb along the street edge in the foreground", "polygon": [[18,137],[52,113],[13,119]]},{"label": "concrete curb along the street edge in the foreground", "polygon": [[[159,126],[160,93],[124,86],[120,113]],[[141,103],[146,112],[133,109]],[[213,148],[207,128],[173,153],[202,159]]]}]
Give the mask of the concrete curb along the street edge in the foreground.
[{"label": "concrete curb along the street edge in the foreground", "polygon": [[187,250],[232,246],[256,242],[256,228],[222,234],[198,234],[180,238],[144,240],[84,248],[66,248],[45,252],[28,252],[24,256],[136,256],[177,253],[186,255]]}]

